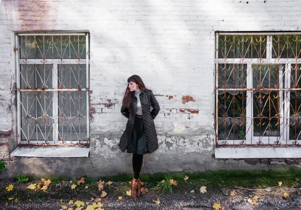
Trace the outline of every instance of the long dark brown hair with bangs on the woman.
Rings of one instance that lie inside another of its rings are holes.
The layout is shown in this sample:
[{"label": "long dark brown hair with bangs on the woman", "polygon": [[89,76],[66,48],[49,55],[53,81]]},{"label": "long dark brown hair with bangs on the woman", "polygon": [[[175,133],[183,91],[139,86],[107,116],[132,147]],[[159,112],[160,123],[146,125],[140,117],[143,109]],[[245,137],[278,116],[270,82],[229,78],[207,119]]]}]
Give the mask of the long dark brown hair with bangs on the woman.
[{"label": "long dark brown hair with bangs on the woman", "polygon": [[[148,89],[145,87],[141,77],[139,77],[138,75],[132,75],[130,76],[128,79],[127,79],[127,83],[129,82],[134,82],[138,85],[138,88],[141,90],[141,91],[148,91]],[[131,105],[131,102],[134,98],[134,91],[130,91],[129,88],[128,88],[128,84],[126,86],[126,89],[125,89],[125,93],[124,93],[124,96],[123,96],[123,100],[122,100],[122,105],[125,106],[126,108],[130,109],[130,105]]]}]

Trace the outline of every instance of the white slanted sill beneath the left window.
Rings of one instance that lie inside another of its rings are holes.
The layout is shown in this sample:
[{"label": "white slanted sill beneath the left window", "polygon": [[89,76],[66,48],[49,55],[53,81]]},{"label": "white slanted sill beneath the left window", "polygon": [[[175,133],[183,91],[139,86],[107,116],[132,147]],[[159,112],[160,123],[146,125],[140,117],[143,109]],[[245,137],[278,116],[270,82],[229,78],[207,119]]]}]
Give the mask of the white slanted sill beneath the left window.
[{"label": "white slanted sill beneath the left window", "polygon": [[19,157],[88,157],[87,146],[19,146],[12,156]]}]

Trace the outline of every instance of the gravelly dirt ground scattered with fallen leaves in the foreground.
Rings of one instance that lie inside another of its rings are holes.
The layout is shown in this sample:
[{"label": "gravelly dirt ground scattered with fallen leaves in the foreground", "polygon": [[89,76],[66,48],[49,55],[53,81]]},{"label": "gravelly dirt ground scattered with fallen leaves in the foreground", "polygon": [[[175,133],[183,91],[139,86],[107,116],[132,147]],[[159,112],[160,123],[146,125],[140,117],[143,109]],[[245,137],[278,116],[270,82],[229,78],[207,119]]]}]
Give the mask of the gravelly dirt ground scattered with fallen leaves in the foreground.
[{"label": "gravelly dirt ground scattered with fallen leaves in the foreground", "polygon": [[[236,195],[232,196],[234,189],[217,189],[206,186],[207,192],[200,192],[200,185],[195,182],[183,181],[173,186],[173,192],[162,194],[156,183],[144,183],[148,192],[141,194],[137,199],[126,194],[130,189],[128,182],[113,182],[111,185],[105,183],[104,191],[106,196],[101,198],[101,191],[97,188],[97,183],[86,182],[71,189],[74,184],[70,181],[56,181],[49,184],[48,189],[43,191],[39,188],[28,189],[32,181],[17,185],[14,180],[0,180],[0,209],[63,209],[66,205],[69,209],[86,209],[88,205],[100,198],[103,209],[214,209],[214,203],[220,203],[221,209],[301,209],[301,184],[293,187],[278,186],[272,188],[271,192],[266,190],[248,190],[235,188]],[[7,191],[6,187],[14,185],[13,190]],[[86,188],[86,185],[88,187]],[[282,198],[284,192],[289,195]],[[118,199],[122,196],[122,199]],[[257,196],[255,201],[258,205],[252,205],[248,198]],[[282,197],[281,197],[282,196]],[[9,198],[11,198],[9,200]],[[153,200],[159,198],[160,203]],[[69,204],[80,200],[86,203],[82,208],[76,208],[74,204]],[[92,201],[93,200],[93,201]],[[89,202],[89,203],[88,203]],[[300,206],[300,207],[299,207]],[[68,209],[67,208],[67,209]]]}]

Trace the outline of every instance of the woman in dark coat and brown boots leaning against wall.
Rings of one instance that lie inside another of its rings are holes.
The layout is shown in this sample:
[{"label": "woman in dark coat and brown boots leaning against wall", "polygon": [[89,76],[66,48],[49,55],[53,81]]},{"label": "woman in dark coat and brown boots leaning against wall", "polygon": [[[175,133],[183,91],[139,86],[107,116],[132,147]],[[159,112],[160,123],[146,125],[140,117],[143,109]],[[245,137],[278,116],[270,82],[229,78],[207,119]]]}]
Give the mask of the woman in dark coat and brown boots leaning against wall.
[{"label": "woman in dark coat and brown boots leaning against wall", "polygon": [[[132,153],[134,177],[131,182],[131,196],[140,195],[139,173],[143,154],[158,149],[158,139],[154,119],[160,106],[151,90],[148,90],[138,75],[127,79],[128,86],[122,100],[121,113],[128,118],[119,147],[122,152]],[[153,110],[150,111],[150,106]]]}]

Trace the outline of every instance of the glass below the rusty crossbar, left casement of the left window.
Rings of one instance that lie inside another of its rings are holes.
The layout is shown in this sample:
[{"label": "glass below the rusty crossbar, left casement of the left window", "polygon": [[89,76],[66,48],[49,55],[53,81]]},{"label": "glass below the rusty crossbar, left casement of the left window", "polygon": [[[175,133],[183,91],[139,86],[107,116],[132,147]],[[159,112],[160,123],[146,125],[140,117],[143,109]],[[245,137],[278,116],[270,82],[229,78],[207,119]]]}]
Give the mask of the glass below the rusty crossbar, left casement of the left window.
[{"label": "glass below the rusty crossbar, left casement of the left window", "polygon": [[21,92],[21,140],[53,140],[52,92]]}]

